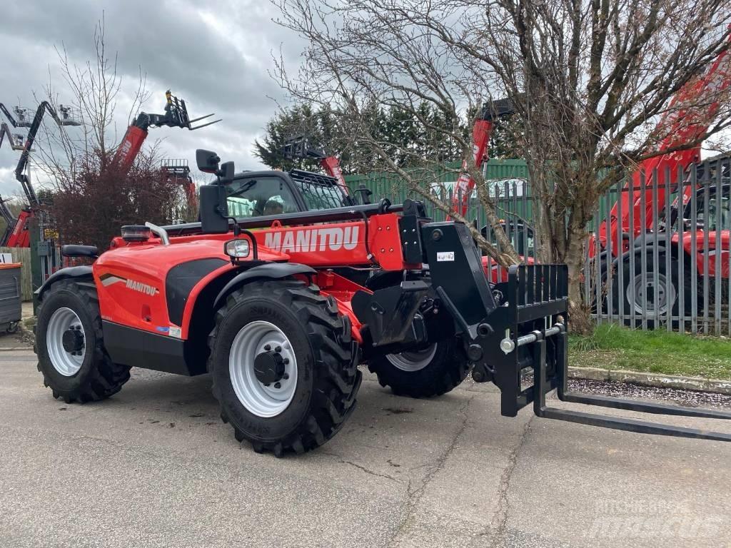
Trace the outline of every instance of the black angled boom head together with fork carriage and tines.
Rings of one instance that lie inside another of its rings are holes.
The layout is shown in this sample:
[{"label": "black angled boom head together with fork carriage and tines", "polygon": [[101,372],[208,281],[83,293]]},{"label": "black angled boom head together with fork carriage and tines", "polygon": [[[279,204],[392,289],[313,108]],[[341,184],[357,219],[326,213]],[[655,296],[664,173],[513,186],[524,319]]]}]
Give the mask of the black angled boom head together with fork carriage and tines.
[{"label": "black angled boom head together with fork carriage and tines", "polygon": [[[493,381],[500,388],[502,415],[516,416],[521,408],[532,403],[534,413],[546,419],[645,434],[731,441],[731,434],[548,407],[546,395],[555,389],[558,399],[566,402],[644,413],[731,419],[731,414],[723,411],[569,392],[567,266],[510,267],[508,281],[496,286],[498,300],[489,290],[480,257],[466,227],[460,224],[452,227],[442,223],[423,227],[432,282],[467,340],[474,381]],[[439,260],[445,257],[450,260]],[[478,295],[482,298],[478,299]],[[480,300],[482,307],[477,305]]]}]

